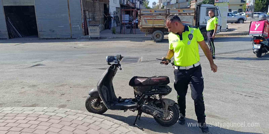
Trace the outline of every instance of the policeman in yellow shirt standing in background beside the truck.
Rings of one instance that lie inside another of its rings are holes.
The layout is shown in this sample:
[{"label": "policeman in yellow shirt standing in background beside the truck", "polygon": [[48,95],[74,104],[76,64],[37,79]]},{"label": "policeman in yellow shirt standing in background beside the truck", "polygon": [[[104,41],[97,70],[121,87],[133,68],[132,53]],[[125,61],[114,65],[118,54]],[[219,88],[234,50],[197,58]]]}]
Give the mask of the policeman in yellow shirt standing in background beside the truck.
[{"label": "policeman in yellow shirt standing in background beside the truck", "polygon": [[215,59],[214,38],[218,28],[218,18],[215,16],[213,10],[208,11],[208,16],[210,17],[210,19],[208,19],[206,24],[207,41],[210,47],[212,58]]}]

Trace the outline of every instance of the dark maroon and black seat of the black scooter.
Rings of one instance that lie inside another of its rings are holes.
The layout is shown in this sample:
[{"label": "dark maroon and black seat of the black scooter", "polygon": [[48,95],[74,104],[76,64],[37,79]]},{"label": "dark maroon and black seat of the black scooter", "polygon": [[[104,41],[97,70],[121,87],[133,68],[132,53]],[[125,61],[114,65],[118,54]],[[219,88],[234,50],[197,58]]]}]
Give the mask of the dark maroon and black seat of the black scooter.
[{"label": "dark maroon and black seat of the black scooter", "polygon": [[130,86],[159,86],[167,85],[170,83],[168,76],[153,76],[153,77],[133,77],[129,85]]}]

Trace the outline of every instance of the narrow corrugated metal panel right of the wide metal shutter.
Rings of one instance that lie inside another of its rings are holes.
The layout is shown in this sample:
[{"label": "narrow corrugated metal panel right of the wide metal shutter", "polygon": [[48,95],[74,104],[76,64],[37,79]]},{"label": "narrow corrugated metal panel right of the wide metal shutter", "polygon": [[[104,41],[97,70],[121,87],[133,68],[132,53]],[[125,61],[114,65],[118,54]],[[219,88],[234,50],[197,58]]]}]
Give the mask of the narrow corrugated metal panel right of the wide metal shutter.
[{"label": "narrow corrugated metal panel right of the wide metal shutter", "polygon": [[83,36],[80,0],[69,0],[72,38]]}]

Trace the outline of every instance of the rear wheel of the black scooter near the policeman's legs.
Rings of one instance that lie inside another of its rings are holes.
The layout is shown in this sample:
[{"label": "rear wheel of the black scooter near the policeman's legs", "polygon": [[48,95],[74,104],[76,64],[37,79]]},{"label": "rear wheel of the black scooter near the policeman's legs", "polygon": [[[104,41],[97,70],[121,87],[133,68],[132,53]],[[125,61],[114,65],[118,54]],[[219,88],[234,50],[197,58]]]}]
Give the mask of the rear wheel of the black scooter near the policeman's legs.
[{"label": "rear wheel of the black scooter near the policeman's legs", "polygon": [[170,112],[169,117],[165,119],[158,119],[154,117],[155,121],[162,126],[174,125],[179,119],[179,107],[177,103],[175,103],[173,106],[168,106],[168,110]]}]

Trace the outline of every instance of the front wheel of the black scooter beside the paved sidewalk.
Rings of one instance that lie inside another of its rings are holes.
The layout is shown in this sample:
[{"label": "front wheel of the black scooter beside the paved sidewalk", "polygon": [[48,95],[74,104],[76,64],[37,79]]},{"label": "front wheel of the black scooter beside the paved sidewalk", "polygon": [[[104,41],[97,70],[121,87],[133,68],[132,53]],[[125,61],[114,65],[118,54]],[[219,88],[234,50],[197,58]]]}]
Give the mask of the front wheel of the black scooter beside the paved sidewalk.
[{"label": "front wheel of the black scooter beside the paved sidewalk", "polygon": [[[100,100],[100,101],[97,102],[98,100]],[[94,106],[95,103],[99,103],[97,107]],[[86,102],[85,102],[85,106],[89,112],[99,114],[99,115],[101,115],[107,111],[107,108],[105,107],[105,104],[102,102],[101,98],[96,97],[96,96],[87,97]]]}]

